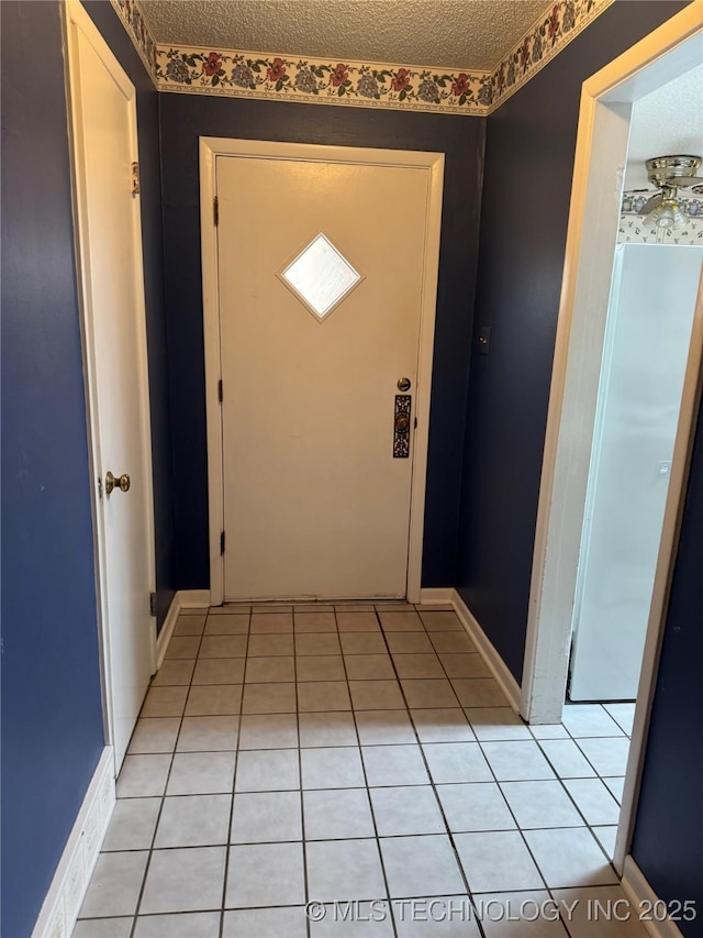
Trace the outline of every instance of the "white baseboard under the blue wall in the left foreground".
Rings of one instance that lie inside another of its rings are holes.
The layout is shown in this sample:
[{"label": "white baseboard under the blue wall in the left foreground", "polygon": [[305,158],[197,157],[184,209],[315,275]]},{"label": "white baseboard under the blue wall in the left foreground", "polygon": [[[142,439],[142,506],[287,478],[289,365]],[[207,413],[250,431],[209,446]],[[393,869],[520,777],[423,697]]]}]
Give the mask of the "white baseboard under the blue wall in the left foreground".
[{"label": "white baseboard under the blue wall in the left foreground", "polygon": [[105,746],[58,861],[32,938],[68,938],[114,808],[114,752]]}]

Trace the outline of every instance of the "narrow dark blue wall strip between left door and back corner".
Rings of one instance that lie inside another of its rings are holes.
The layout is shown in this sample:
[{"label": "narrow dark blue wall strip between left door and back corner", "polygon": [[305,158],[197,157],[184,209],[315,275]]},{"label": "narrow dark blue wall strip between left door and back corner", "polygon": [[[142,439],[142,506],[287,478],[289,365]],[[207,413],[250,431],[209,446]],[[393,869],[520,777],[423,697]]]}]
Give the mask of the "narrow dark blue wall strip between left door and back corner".
[{"label": "narrow dark blue wall strip between left door and back corner", "polygon": [[146,338],[149,363],[157,625],[160,629],[177,588],[171,421],[164,298],[159,95],[112,4],[83,5],[136,88]]}]

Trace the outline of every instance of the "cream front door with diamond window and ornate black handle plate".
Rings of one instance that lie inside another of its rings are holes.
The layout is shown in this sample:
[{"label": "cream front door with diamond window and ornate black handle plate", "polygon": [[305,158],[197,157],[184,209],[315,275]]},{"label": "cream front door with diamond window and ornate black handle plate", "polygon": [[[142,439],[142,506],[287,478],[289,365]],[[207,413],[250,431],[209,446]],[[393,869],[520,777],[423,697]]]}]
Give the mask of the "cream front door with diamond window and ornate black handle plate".
[{"label": "cream front door with diamond window and ornate black handle plate", "polygon": [[431,174],[217,156],[215,180],[224,598],[403,597]]}]

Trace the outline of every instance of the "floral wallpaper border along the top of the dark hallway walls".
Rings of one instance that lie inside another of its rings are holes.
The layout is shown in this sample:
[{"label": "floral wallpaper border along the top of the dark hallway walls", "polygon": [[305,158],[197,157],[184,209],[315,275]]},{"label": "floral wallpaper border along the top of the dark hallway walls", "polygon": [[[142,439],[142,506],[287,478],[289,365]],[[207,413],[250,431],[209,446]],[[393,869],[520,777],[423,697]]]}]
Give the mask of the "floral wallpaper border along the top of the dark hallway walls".
[{"label": "floral wallpaper border along the top of the dark hallway walls", "polygon": [[484,117],[614,0],[556,0],[493,71],[157,45],[138,0],[111,0],[159,91]]}]

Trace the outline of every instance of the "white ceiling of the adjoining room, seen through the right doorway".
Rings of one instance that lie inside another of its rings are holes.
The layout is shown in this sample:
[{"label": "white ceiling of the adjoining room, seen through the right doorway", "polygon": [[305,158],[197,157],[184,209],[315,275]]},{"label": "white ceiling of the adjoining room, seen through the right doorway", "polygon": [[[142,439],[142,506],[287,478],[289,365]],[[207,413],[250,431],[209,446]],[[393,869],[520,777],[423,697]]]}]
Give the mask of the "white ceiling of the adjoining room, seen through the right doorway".
[{"label": "white ceiling of the adjoining room, seen through the right doorway", "polygon": [[703,156],[703,65],[634,104],[625,188],[654,190],[645,161],[678,153]]}]

